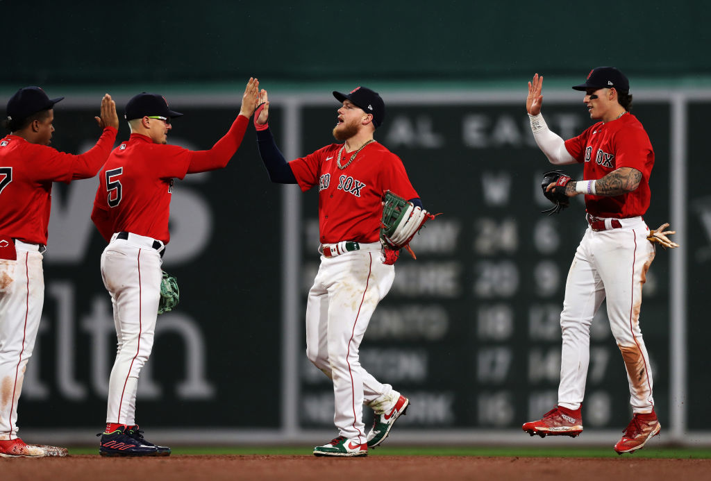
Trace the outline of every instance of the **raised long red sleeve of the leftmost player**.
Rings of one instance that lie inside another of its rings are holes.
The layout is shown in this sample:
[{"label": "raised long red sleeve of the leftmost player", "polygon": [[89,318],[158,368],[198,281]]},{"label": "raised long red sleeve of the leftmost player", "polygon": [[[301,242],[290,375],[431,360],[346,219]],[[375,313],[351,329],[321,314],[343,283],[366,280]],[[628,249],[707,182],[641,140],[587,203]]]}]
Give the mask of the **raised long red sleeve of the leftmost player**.
[{"label": "raised long red sleeve of the leftmost player", "polygon": [[31,145],[33,157],[41,162],[37,180],[70,183],[96,175],[106,162],[116,141],[117,129],[105,127],[96,145],[80,155],[64,153],[49,146]]}]

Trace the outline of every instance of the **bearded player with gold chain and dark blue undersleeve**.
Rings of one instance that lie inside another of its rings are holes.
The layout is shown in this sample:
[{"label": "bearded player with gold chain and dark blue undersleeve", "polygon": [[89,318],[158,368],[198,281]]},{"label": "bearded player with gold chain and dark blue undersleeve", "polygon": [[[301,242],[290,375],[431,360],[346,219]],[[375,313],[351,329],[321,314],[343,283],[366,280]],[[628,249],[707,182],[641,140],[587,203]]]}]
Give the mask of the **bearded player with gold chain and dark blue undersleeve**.
[{"label": "bearded player with gold chain and dark blue undersleeve", "polygon": [[[400,158],[373,139],[383,124],[385,104],[365,87],[349,94],[333,92],[342,102],[331,144],[287,163],[267,123],[267,92],[255,113],[260,156],[275,183],[319,188],[321,266],[306,303],[306,356],[333,380],[339,436],[316,446],[317,456],[363,456],[383,442],[409,399],[381,384],[363,369],[358,348],[370,316],[390,290],[394,259],[379,242],[381,199],[392,190],[420,209],[417,192]],[[366,434],[363,403],[375,411]]]}]

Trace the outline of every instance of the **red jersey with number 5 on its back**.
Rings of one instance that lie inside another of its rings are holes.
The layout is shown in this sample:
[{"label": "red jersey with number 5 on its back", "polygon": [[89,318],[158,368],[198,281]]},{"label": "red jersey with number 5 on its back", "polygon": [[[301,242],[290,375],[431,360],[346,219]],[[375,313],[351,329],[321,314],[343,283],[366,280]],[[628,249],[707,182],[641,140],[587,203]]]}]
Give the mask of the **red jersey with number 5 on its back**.
[{"label": "red jersey with number 5 on its back", "polygon": [[249,119],[237,115],[225,136],[208,151],[154,144],[131,134],[114,148],[99,175],[92,220],[108,242],[116,232],[153,237],[168,244],[173,179],[227,166],[242,143]]}]

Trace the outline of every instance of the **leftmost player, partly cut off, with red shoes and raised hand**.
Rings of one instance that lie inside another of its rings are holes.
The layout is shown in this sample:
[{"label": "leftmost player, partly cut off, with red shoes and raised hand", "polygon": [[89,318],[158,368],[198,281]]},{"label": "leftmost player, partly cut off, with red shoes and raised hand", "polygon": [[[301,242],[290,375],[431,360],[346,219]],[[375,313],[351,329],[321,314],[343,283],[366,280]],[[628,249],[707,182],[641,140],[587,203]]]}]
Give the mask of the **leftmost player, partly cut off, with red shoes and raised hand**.
[{"label": "leftmost player, partly cut off, with red shoes and raised hand", "polygon": [[101,102],[96,145],[81,155],[49,146],[54,105],[39,87],[18,90],[7,103],[0,141],[0,457],[64,456],[67,450],[28,445],[17,437],[17,404],[44,304],[43,254],[52,183],[96,175],[116,140],[119,119],[109,94]]}]

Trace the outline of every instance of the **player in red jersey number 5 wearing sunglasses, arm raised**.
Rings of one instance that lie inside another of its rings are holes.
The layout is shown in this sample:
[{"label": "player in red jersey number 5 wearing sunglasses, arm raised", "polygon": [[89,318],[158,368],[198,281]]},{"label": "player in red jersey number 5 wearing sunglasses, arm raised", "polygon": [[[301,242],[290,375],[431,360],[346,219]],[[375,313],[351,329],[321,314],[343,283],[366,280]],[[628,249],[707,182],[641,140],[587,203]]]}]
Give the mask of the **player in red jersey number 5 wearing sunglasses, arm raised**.
[{"label": "player in red jersey number 5 wearing sunglasses, arm raised", "polygon": [[131,137],[114,149],[102,169],[92,212],[97,229],[109,242],[101,256],[101,274],[111,295],[118,337],[101,455],[171,453],[170,448],[146,441],[135,412],[139,374],[153,347],[161,258],[170,240],[173,179],[228,165],[257,107],[258,87],[257,79],[250,78],[240,114],[208,151],[165,145],[171,119],[182,114],[169,109],[161,95],[138,94],[126,105]]}]

